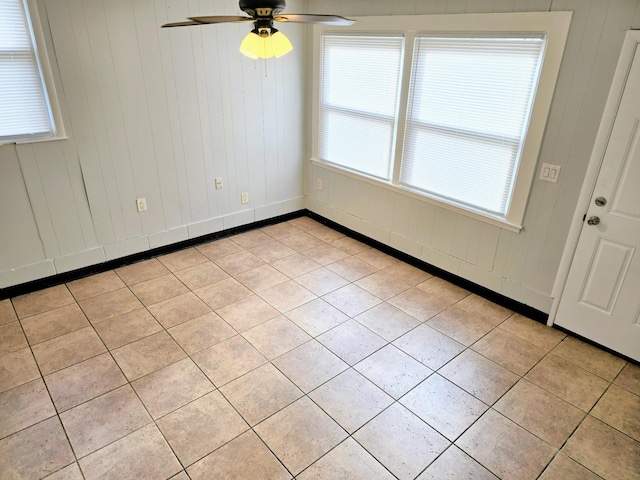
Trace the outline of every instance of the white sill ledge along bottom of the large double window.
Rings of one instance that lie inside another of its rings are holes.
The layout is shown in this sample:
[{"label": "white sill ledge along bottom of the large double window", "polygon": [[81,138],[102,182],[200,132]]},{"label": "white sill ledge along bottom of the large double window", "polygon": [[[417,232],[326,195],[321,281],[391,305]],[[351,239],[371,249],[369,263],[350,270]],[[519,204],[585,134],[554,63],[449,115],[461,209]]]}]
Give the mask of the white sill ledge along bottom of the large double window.
[{"label": "white sill ledge along bottom of the large double window", "polygon": [[334,165],[329,165],[325,162],[322,162],[320,160],[317,160],[315,158],[311,158],[311,163],[312,165],[316,166],[316,167],[320,167],[323,168],[325,170],[331,171],[331,172],[335,172],[335,173],[339,173],[341,175],[344,175],[346,177],[350,177],[353,178],[355,180],[359,180],[362,182],[367,182],[370,183],[372,185],[376,185],[378,187],[382,187],[385,188],[387,190],[390,190],[392,192],[395,193],[399,193],[408,197],[412,197],[415,198],[417,200],[426,202],[426,203],[430,203],[432,205],[436,205],[440,208],[444,208],[446,210],[458,213],[460,215],[464,215],[466,217],[470,217],[473,218],[475,220],[479,220],[481,222],[487,223],[489,225],[494,225],[496,227],[500,227],[504,230],[508,230],[510,232],[515,232],[515,233],[520,233],[520,231],[523,229],[522,225],[517,225],[514,223],[510,223],[508,221],[506,221],[503,218],[500,217],[492,217],[488,214],[485,213],[479,213],[479,212],[475,212],[473,210],[468,210],[466,208],[462,208],[458,205],[455,204],[450,204],[450,203],[446,203],[442,200],[437,200],[435,198],[431,198],[428,197],[426,195],[423,195],[421,193],[418,193],[414,190],[408,189],[406,187],[402,187],[399,185],[394,185],[392,183],[389,182],[385,182],[385,181],[381,181],[378,179],[374,179],[371,177],[367,177],[366,175],[362,175],[362,174],[357,174],[354,172],[351,172],[349,170],[343,169],[343,168],[339,168],[337,166]]}]

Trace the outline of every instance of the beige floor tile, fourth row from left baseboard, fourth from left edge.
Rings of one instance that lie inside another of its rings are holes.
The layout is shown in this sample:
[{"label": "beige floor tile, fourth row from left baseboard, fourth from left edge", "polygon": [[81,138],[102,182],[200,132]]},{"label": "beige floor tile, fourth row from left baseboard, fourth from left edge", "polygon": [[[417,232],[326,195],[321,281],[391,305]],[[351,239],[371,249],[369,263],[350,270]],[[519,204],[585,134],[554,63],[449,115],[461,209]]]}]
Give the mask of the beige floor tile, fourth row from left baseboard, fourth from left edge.
[{"label": "beige floor tile, fourth row from left baseboard, fourth from left edge", "polygon": [[168,332],[188,355],[236,335],[236,331],[213,312],[176,325]]}]

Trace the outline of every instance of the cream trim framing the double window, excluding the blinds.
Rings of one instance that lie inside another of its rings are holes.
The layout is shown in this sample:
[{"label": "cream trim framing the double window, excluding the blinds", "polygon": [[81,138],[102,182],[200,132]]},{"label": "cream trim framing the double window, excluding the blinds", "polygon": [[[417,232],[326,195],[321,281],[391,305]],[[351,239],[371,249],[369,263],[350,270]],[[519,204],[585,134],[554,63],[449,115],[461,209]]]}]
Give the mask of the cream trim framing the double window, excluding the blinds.
[{"label": "cream trim framing the double window, excluding the blinds", "polygon": [[[313,27],[313,96],[311,108],[311,160],[316,165],[329,167],[348,173],[354,178],[366,179],[376,185],[384,185],[394,191],[410,194],[423,201],[453,210],[484,222],[500,226],[507,230],[522,230],[525,209],[534,180],[538,157],[542,146],[547,118],[555,92],[560,64],[569,33],[572,12],[518,12],[518,13],[479,13],[455,15],[397,15],[387,17],[356,17],[355,25],[336,30],[330,26]],[[396,130],[396,150],[392,165],[392,179],[383,181],[364,174],[357,174],[342,167],[319,160],[319,79],[321,68],[321,38],[325,32],[356,34],[403,33],[405,38],[405,63],[403,68],[402,90],[400,92],[400,115]],[[546,36],[546,48],[538,81],[538,88],[532,107],[531,119],[527,128],[522,154],[514,181],[511,201],[505,217],[490,215],[480,210],[433,198],[423,192],[400,184],[400,168],[405,137],[406,111],[409,97],[411,62],[415,36],[418,34],[479,34],[479,35],[518,35],[542,34]]]}]

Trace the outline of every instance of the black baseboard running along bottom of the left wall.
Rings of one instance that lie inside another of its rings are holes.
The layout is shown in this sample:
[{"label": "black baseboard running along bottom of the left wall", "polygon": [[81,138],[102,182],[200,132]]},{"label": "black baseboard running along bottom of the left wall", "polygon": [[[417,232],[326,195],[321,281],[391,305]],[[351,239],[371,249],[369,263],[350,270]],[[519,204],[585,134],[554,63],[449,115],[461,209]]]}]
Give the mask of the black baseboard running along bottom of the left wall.
[{"label": "black baseboard running along bottom of the left wall", "polygon": [[50,277],[40,278],[31,282],[21,283],[7,288],[0,288],[0,300],[6,298],[17,297],[18,295],[24,295],[26,293],[35,292],[36,290],[42,290],[43,288],[54,287],[62,283],[71,282],[80,278],[88,277],[89,275],[95,275],[96,273],[106,272],[115,268],[124,267],[132,263],[140,262],[142,260],[148,260],[150,258],[157,257],[159,255],[166,255],[167,253],[177,252],[184,248],[193,247],[205,242],[211,242],[220,238],[229,237],[238,233],[247,232],[256,228],[266,227],[268,225],[274,225],[280,222],[286,222],[287,220],[293,220],[294,218],[304,217],[309,212],[307,210],[298,210],[293,213],[287,213],[278,217],[269,218],[267,220],[260,220],[250,223],[248,225],[242,225],[239,227],[229,228],[220,232],[209,233],[196,238],[190,238],[181,242],[172,243],[171,245],[165,245],[163,247],[152,248],[151,250],[145,250],[144,252],[134,253],[122,258],[116,258],[115,260],[109,260],[108,262],[98,263],[96,265],[89,265],[88,267],[79,268],[77,270],[71,270],[70,272],[58,273]]}]

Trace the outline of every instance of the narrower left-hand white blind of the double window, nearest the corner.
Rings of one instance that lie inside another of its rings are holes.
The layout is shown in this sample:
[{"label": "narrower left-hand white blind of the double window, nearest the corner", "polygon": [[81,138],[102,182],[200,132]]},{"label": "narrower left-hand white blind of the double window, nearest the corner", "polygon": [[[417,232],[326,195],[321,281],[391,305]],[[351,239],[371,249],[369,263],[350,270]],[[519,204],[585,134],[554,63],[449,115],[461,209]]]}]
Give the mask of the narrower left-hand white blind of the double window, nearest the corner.
[{"label": "narrower left-hand white blind of the double window, nearest the corner", "polygon": [[390,179],[403,45],[397,35],[323,35],[320,160]]}]

